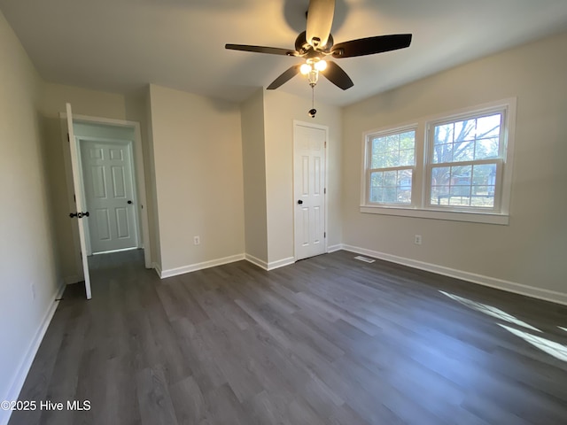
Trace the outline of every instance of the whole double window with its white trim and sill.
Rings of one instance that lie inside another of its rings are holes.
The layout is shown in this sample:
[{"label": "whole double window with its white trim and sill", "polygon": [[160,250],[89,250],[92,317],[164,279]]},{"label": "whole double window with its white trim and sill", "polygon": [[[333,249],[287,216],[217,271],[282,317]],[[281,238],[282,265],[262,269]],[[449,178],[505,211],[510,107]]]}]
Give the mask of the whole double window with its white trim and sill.
[{"label": "whole double window with its white trim and sill", "polygon": [[361,212],[508,224],[516,100],[364,135]]}]

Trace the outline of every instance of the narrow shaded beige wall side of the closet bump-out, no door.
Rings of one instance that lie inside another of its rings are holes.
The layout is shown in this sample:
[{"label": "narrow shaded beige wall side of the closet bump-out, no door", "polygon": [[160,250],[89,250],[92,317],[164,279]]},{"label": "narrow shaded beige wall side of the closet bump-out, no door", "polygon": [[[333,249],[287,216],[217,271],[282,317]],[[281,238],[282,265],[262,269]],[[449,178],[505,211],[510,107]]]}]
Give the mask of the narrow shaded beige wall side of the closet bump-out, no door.
[{"label": "narrow shaded beige wall side of the closet bump-out, no door", "polygon": [[262,89],[240,105],[245,203],[245,252],[268,264],[266,148]]}]

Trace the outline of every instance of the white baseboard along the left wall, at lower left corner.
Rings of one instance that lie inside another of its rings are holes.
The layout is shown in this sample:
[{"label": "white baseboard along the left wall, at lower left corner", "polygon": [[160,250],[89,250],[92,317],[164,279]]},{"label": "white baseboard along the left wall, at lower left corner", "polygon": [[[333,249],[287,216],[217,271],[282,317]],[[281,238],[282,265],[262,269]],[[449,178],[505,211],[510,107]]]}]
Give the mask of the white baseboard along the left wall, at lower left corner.
[{"label": "white baseboard along the left wall, at lower left corner", "polygon": [[[45,332],[47,332],[47,328],[50,326],[51,319],[53,318],[53,314],[55,314],[55,310],[57,310],[58,298],[61,298],[63,292],[65,291],[66,283],[61,282],[57,292],[51,298],[51,302],[49,308],[43,315],[43,320],[40,323],[39,328],[35,332],[35,336],[32,339],[29,347],[27,348],[27,352],[23,356],[21,363],[18,367],[18,372],[12,381],[12,385],[10,386],[10,390],[5,395],[2,400],[17,400],[19,397],[19,392],[21,391],[24,383],[26,382],[27,373],[29,372],[30,367],[32,367],[32,363],[35,359],[35,354],[37,354],[37,350],[39,350],[40,344],[42,344],[43,336],[45,336]],[[10,416],[12,415],[11,410],[2,410],[0,409],[0,425],[5,425],[10,421]]]}]

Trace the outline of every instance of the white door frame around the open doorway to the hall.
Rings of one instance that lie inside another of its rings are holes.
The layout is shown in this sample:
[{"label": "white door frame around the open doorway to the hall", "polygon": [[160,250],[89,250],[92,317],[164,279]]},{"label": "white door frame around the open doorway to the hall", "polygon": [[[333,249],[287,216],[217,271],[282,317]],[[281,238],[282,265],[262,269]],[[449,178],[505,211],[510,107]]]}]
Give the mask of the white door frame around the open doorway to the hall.
[{"label": "white door frame around the open doorway to the hall", "polygon": [[[66,120],[66,112],[59,112],[59,118],[64,121]],[[138,218],[140,227],[142,230],[142,238],[138,238],[138,243],[142,245],[144,248],[144,265],[145,268],[152,268],[151,263],[151,243],[150,243],[150,226],[148,220],[148,208],[147,208],[147,198],[146,198],[146,188],[145,188],[145,170],[144,170],[144,151],[142,149],[142,133],[140,131],[140,123],[137,121],[130,121],[130,120],[113,120],[109,118],[101,118],[101,117],[92,117],[88,115],[75,115],[73,114],[74,121],[86,122],[89,124],[101,124],[105,126],[114,126],[114,127],[128,127],[134,128],[134,143],[133,143],[133,161],[134,161],[134,176],[136,180],[136,197],[138,200]],[[83,137],[84,138],[84,137]],[[66,163],[66,178],[67,178],[67,190],[69,191],[69,205],[74,205],[74,189],[73,185],[69,185],[69,178],[71,177],[70,173],[70,153],[69,153],[69,145],[67,143],[66,138],[66,130],[62,135],[62,140],[64,143],[64,156],[65,156],[65,163]],[[82,176],[81,176],[82,182]],[[84,184],[82,183],[82,187]],[[76,231],[74,230],[74,233]],[[80,247],[77,245],[77,236],[74,237],[75,242],[75,257],[79,261],[77,265],[80,265]],[[140,242],[141,241],[141,242]],[[77,276],[79,281],[81,280],[81,276]],[[77,282],[79,282],[77,281]]]}]

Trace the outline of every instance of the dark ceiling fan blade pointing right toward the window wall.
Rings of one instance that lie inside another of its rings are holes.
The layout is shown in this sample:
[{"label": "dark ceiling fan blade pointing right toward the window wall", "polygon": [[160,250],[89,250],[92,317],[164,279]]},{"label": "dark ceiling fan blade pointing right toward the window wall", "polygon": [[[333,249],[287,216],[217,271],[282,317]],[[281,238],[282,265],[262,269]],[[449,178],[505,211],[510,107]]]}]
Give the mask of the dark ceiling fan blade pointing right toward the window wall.
[{"label": "dark ceiling fan blade pointing right toward the window wall", "polygon": [[333,58],[353,58],[374,55],[384,51],[405,49],[411,43],[411,34],[377,35],[350,42],[339,42],[330,50]]}]

